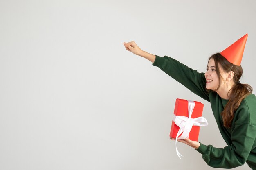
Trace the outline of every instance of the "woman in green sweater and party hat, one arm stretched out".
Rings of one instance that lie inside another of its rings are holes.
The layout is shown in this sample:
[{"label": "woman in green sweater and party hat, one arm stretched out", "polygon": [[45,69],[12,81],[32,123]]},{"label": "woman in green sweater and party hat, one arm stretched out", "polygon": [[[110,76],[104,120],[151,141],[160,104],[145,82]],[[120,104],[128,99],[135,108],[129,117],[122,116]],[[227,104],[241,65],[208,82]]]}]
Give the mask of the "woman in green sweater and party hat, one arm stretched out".
[{"label": "woman in green sweater and party hat, one arm stretched out", "polygon": [[205,73],[198,73],[171,57],[149,54],[134,41],[124,43],[126,50],[148,59],[153,66],[211,103],[227,146],[214,148],[188,138],[177,139],[195,148],[211,167],[234,168],[246,162],[256,170],[256,97],[251,86],[239,81],[243,73],[240,62],[246,39],[247,34],[221,53],[213,54]]}]

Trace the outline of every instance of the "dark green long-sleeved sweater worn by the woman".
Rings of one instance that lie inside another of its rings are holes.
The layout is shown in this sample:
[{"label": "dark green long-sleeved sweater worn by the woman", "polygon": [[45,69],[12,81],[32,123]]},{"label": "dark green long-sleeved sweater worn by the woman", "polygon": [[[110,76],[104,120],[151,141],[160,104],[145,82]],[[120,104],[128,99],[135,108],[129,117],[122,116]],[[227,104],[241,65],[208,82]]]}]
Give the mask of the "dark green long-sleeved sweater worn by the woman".
[{"label": "dark green long-sleeved sweater worn by the woman", "polygon": [[215,168],[234,168],[245,162],[256,170],[256,97],[247,96],[235,111],[231,128],[223,126],[221,112],[228,100],[222,99],[216,92],[207,92],[204,73],[198,73],[171,57],[156,55],[153,66],[159,67],[166,74],[180,82],[193,93],[211,103],[213,115],[220,133],[227,143],[224,148],[200,143],[198,149],[204,161]]}]

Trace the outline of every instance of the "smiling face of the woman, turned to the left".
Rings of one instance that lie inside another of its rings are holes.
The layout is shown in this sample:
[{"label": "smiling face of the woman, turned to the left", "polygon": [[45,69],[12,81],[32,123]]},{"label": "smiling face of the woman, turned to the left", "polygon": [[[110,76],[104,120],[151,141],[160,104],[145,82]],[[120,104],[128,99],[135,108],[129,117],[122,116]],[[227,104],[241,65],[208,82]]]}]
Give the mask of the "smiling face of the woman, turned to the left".
[{"label": "smiling face of the woman, turned to the left", "polygon": [[[222,73],[222,70],[220,71],[220,73]],[[216,73],[215,62],[213,59],[209,60],[209,63],[207,65],[207,72],[205,72],[204,76],[206,79],[206,89],[208,90],[217,89],[219,85],[219,78]]]}]

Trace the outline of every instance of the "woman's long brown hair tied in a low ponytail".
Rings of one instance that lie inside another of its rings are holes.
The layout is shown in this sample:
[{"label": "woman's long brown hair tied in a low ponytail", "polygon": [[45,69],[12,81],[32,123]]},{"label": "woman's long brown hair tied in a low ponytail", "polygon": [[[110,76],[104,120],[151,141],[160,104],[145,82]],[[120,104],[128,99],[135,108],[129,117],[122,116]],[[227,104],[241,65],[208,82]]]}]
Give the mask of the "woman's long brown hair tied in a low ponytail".
[{"label": "woman's long brown hair tied in a low ponytail", "polygon": [[[224,72],[234,72],[234,77],[232,78],[234,81],[234,86],[230,89],[230,92],[228,92],[229,95],[229,101],[227,102],[227,105],[224,107],[221,115],[224,122],[224,126],[227,128],[231,127],[231,122],[234,118],[234,111],[238,109],[240,103],[242,100],[252,93],[252,87],[248,84],[241,84],[239,79],[241,78],[243,74],[243,69],[241,66],[234,65],[227,61],[225,57],[223,57],[220,53],[213,54],[210,58],[213,59],[215,62],[216,67],[216,73],[219,78],[219,82],[221,83],[221,79],[223,81],[224,78],[220,74],[219,68],[221,67]],[[209,63],[208,60],[208,63]],[[220,83],[217,87],[217,89],[213,90],[216,91],[220,88]]]}]

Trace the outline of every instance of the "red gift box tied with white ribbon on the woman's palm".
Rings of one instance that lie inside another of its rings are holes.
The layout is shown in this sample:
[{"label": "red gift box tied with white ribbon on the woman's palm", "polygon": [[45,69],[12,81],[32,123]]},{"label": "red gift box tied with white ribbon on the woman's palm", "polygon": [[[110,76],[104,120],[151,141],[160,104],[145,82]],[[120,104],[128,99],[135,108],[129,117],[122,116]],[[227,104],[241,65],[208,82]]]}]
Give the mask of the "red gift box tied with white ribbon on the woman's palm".
[{"label": "red gift box tied with white ribbon on the woman's palm", "polygon": [[[181,129],[182,127],[179,127],[177,124],[175,124],[175,119],[177,116],[180,116],[180,118],[183,118],[183,120],[180,120],[180,122],[181,122],[181,124],[183,123],[183,125],[185,124],[185,126],[187,126],[186,121],[191,122],[191,120],[195,120],[195,118],[199,118],[199,117],[202,118],[203,107],[204,107],[204,104],[202,104],[201,102],[189,101],[189,100],[177,98],[176,103],[175,103],[175,109],[174,109],[175,116],[174,116],[174,120],[171,125],[170,137],[176,138],[178,132],[181,133],[180,130],[182,130]],[[176,122],[178,122],[178,121],[176,119]],[[202,122],[203,122],[202,120],[197,120],[197,121],[198,121],[197,122],[198,124],[202,125]],[[202,121],[202,122],[200,122],[200,121]],[[206,121],[206,120],[204,120],[204,121]],[[207,121],[204,122],[204,124],[207,125]],[[203,125],[203,126],[205,126],[205,125]],[[191,139],[193,141],[198,141],[200,126],[195,126],[195,123],[193,125],[191,124],[188,126],[192,126],[192,128],[189,127],[189,129],[191,128],[190,131],[185,130],[186,133],[189,133],[189,139]],[[188,129],[188,128],[186,128],[186,129]],[[185,131],[183,128],[182,133],[185,133]],[[179,137],[182,136],[182,133],[178,136],[178,139],[179,139]]]}]

